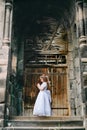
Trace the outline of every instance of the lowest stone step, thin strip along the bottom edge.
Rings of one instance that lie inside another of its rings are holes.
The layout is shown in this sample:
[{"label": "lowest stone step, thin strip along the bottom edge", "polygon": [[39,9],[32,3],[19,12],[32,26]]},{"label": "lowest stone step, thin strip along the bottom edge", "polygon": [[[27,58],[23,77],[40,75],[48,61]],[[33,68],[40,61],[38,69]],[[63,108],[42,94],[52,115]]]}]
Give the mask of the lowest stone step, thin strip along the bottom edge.
[{"label": "lowest stone step, thin strip along the bottom edge", "polygon": [[3,130],[85,130],[84,127],[6,127]]}]

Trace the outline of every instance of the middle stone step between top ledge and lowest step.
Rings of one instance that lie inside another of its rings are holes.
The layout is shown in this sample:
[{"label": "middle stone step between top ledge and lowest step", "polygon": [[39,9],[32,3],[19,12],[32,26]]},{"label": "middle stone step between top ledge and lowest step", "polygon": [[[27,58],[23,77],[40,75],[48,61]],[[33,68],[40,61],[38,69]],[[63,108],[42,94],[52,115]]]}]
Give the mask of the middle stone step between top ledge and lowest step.
[{"label": "middle stone step between top ledge and lowest step", "polygon": [[56,126],[61,126],[61,127],[73,127],[73,126],[80,126],[82,127],[83,126],[83,120],[10,120],[8,122],[8,125],[12,125],[14,127],[31,127],[31,126],[34,126],[34,127],[56,127]]}]

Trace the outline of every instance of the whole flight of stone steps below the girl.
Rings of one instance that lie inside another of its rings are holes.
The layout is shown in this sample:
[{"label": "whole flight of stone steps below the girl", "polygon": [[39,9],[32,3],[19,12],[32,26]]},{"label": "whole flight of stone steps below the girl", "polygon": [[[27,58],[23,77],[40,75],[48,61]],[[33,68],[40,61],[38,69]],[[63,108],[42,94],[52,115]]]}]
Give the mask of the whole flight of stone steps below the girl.
[{"label": "whole flight of stone steps below the girl", "polygon": [[85,130],[82,117],[11,117],[3,130]]}]

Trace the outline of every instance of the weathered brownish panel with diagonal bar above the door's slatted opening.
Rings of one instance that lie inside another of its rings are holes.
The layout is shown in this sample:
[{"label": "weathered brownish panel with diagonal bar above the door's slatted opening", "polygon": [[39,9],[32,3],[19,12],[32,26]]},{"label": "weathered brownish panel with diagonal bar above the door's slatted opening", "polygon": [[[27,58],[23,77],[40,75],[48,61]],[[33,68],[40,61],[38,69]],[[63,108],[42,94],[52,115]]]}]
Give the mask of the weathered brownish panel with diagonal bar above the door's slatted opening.
[{"label": "weathered brownish panel with diagonal bar above the door's slatted opening", "polygon": [[58,54],[67,52],[67,32],[66,30],[59,26],[53,31],[52,34],[49,32],[45,35],[37,35],[35,38],[27,39],[26,47],[32,48],[32,50],[40,51],[40,52],[55,52]]}]

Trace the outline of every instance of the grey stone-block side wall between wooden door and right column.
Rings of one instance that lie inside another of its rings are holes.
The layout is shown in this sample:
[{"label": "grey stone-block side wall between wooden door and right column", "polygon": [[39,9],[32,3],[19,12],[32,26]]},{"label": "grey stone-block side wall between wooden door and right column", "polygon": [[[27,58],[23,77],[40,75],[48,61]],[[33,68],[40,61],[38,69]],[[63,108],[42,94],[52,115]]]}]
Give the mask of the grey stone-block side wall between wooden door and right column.
[{"label": "grey stone-block side wall between wooden door and right column", "polygon": [[74,24],[69,31],[68,44],[68,80],[69,80],[69,101],[72,116],[81,116],[82,114],[82,93],[80,76],[79,47],[76,39]]}]

